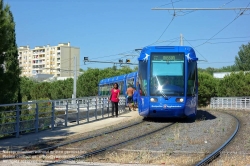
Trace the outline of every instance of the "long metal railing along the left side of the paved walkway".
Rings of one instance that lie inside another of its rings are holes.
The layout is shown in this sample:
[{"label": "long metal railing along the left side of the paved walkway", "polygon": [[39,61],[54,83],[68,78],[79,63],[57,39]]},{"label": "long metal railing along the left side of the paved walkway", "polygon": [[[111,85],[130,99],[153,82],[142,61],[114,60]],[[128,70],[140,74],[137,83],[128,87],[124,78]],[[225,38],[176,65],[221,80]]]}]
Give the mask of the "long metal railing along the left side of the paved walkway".
[{"label": "long metal railing along the left side of the paved walkway", "polygon": [[[0,105],[0,137],[38,132],[55,127],[88,123],[112,115],[110,96],[32,101]],[[125,111],[126,98],[120,96],[119,112]]]}]

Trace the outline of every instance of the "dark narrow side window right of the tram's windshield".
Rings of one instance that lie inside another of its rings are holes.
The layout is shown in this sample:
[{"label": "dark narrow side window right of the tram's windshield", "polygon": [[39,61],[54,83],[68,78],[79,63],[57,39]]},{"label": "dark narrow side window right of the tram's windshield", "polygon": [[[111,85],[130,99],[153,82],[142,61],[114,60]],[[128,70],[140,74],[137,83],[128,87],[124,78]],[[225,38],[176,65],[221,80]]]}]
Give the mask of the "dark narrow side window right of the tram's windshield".
[{"label": "dark narrow side window right of the tram's windshield", "polygon": [[188,85],[187,96],[193,96],[196,93],[196,77],[197,77],[197,64],[196,62],[190,62],[188,64]]}]

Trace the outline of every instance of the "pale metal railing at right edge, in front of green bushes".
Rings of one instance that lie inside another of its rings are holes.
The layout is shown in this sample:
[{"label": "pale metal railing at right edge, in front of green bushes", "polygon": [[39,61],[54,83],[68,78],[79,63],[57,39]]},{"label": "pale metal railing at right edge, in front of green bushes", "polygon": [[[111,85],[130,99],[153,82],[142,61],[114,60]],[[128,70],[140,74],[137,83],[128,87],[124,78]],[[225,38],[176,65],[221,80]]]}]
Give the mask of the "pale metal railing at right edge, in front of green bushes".
[{"label": "pale metal railing at right edge, in front of green bushes", "polygon": [[250,109],[250,97],[213,97],[210,108]]}]

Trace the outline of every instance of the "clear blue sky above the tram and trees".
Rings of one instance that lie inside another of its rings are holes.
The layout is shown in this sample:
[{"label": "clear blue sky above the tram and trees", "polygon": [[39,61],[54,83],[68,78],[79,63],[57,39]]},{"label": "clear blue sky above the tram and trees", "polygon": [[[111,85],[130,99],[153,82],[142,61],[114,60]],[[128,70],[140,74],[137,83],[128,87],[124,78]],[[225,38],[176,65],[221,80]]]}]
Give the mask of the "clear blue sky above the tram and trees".
[{"label": "clear blue sky above the tram and trees", "polygon": [[[181,34],[184,45],[195,49],[199,68],[221,68],[233,65],[240,47],[250,41],[250,10],[176,9],[246,8],[250,0],[3,1],[14,15],[18,47],[70,42],[80,48],[84,70],[112,67],[119,59],[137,63],[135,49],[178,46]],[[84,57],[99,62],[84,64]]]}]

